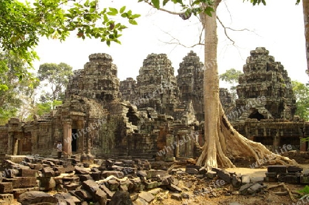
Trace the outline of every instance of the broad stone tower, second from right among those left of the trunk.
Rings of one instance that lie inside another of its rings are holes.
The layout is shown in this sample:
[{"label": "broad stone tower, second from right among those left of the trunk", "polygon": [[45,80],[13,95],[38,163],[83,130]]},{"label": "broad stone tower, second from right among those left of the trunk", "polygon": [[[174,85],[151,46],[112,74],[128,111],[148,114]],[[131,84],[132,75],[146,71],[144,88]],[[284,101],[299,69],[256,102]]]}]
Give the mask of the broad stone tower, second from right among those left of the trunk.
[{"label": "broad stone tower, second from right among those left of the trunk", "polygon": [[166,54],[152,53],[137,76],[137,92],[132,101],[138,108],[155,108],[159,114],[172,115],[179,103],[174,68]]}]

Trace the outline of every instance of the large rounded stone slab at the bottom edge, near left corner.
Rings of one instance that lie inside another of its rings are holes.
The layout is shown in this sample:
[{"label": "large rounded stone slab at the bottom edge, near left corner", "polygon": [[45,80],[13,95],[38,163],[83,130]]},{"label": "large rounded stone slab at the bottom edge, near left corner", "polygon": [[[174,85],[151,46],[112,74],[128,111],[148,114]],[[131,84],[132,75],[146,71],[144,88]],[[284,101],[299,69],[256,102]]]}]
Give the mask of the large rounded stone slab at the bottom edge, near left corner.
[{"label": "large rounded stone slab at the bottom edge, near left corner", "polygon": [[17,200],[23,205],[30,205],[30,204],[38,204],[38,203],[50,203],[50,204],[57,204],[56,197],[49,195],[43,191],[28,191],[19,195]]}]

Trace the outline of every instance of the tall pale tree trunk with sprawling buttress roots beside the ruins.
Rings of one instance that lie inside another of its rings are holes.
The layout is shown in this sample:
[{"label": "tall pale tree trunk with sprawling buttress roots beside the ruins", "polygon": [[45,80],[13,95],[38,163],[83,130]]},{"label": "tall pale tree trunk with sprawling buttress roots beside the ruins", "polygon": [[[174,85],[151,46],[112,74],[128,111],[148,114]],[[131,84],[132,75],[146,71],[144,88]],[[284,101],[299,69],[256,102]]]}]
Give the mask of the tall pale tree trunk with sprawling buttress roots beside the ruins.
[{"label": "tall pale tree trunk with sprawling buttress roots beside the ruins", "polygon": [[[214,10],[221,0],[216,1]],[[212,16],[201,14],[205,27],[205,145],[197,165],[212,167],[234,167],[229,157],[253,156],[258,162],[267,160],[274,164],[297,164],[295,160],[275,155],[261,143],[250,141],[233,129],[222,109],[219,99],[219,77],[217,59],[216,12]]]}]

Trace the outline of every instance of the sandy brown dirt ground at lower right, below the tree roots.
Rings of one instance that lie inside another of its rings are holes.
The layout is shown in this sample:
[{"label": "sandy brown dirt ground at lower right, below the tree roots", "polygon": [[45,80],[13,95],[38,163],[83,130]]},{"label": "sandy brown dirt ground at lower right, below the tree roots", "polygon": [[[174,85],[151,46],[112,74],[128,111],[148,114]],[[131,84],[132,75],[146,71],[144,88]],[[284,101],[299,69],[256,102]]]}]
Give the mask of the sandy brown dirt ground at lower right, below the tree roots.
[{"label": "sandy brown dirt ground at lower right, below the tree roots", "polygon": [[[304,169],[309,169],[309,165],[300,165]],[[252,177],[264,177],[265,169],[250,169],[250,168],[233,168],[226,169],[229,172],[236,172],[241,174],[248,174]],[[274,183],[264,183],[267,187],[264,191],[253,195],[240,195],[237,191],[238,189],[233,188],[231,184],[225,184],[223,186],[216,186],[215,180],[203,180],[191,178],[190,176],[174,176],[179,180],[179,187],[182,189],[182,193],[187,194],[187,199],[182,199],[181,201],[171,198],[172,191],[166,191],[162,189],[157,189],[157,195],[155,201],[151,205],[164,204],[164,205],[193,205],[193,204],[222,204],[222,205],[264,205],[264,204],[274,204],[274,205],[303,205],[309,204],[309,202],[304,199],[300,200],[301,195],[297,191],[304,188],[304,185],[299,184],[286,184],[288,189],[292,191],[293,197],[295,197],[295,202],[293,202],[288,195],[286,189],[282,186],[277,188],[268,189],[271,186],[280,184],[279,182]],[[215,184],[215,185],[214,185]]]}]

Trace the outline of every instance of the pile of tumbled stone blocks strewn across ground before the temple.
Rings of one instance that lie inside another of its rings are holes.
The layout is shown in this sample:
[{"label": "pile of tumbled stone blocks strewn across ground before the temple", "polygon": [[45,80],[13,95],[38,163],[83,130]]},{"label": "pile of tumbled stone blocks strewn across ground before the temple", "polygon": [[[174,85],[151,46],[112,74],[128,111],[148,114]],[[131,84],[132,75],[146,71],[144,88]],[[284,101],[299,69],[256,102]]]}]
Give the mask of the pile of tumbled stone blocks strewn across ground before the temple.
[{"label": "pile of tumbled stone blocks strewn across ground before the temple", "polygon": [[[196,165],[161,166],[147,160],[11,157],[3,161],[0,204],[150,204],[167,198],[192,202],[196,196],[255,195],[264,182],[308,183],[299,167],[269,166],[266,177],[250,177]],[[173,168],[174,167],[174,168]],[[222,188],[222,189],[218,189]],[[168,194],[167,194],[168,193]],[[190,203],[187,203],[190,204]]]}]

